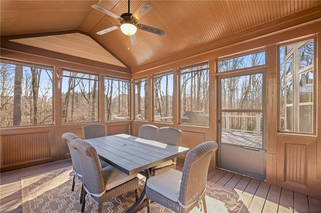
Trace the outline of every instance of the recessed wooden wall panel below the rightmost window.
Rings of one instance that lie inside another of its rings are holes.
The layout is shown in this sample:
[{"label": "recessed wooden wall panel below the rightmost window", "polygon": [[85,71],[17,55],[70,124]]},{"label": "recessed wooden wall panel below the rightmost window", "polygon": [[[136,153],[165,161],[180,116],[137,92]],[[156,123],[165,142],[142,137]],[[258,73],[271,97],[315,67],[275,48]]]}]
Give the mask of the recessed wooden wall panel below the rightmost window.
[{"label": "recessed wooden wall panel below the rightmost window", "polygon": [[316,179],[316,136],[278,133],[277,186],[321,198]]}]

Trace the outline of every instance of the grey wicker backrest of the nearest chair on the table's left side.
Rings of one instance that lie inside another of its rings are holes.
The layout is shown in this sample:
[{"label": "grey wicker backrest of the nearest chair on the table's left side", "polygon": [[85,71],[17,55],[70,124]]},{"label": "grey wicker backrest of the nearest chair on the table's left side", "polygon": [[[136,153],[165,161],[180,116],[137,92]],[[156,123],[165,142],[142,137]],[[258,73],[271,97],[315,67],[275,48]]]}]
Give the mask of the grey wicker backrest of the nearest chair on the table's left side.
[{"label": "grey wicker backrest of the nearest chair on the table's left side", "polygon": [[92,194],[105,191],[105,182],[96,149],[85,140],[76,138],[70,142],[76,150],[82,170],[82,182]]}]

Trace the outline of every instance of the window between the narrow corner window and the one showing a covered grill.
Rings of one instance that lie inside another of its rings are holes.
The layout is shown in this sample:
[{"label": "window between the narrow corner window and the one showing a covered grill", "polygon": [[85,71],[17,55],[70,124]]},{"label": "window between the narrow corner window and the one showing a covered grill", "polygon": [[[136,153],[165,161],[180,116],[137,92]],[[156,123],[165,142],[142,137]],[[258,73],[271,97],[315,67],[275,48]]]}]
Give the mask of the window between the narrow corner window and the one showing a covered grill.
[{"label": "window between the narrow corner window and the one showing a covered grill", "polygon": [[154,120],[173,122],[173,72],[153,75]]}]

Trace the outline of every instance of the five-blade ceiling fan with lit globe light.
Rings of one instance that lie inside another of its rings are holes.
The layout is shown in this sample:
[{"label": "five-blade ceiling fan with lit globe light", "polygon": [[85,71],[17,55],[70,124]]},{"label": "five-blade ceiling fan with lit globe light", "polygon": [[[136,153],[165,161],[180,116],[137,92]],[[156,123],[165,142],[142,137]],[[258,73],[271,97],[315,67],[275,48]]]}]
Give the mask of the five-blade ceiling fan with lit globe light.
[{"label": "five-blade ceiling fan with lit globe light", "polygon": [[148,32],[152,32],[157,35],[164,35],[165,34],[165,31],[162,29],[157,29],[152,26],[147,26],[144,24],[137,23],[138,19],[140,17],[142,17],[144,14],[146,14],[152,8],[152,6],[147,2],[143,2],[134,13],[130,13],[130,11],[129,11],[130,1],[128,0],[128,12],[122,13],[120,16],[99,6],[99,5],[97,5],[97,4],[93,4],[93,5],[91,5],[91,7],[94,9],[97,9],[97,10],[99,10],[99,11],[101,11],[111,17],[116,18],[121,23],[121,25],[112,26],[112,27],[98,31],[97,34],[99,34],[99,35],[102,35],[107,32],[110,32],[110,31],[120,28],[124,34],[129,36],[130,43],[132,45],[135,45],[135,44],[137,44],[137,38],[135,35],[137,28],[141,29],[141,30],[148,31]]}]

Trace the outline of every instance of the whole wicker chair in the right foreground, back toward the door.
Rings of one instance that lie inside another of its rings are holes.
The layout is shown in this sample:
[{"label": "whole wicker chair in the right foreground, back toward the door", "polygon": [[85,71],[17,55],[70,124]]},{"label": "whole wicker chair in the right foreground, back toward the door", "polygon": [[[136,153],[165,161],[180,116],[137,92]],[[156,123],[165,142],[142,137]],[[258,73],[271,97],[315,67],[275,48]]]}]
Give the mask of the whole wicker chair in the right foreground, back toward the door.
[{"label": "whole wicker chair in the right foreground, back toward the door", "polygon": [[150,200],[175,212],[189,212],[195,206],[203,204],[204,211],[207,212],[207,172],[212,153],[217,147],[215,141],[203,142],[187,153],[183,172],[168,169],[149,177],[146,182],[147,212],[150,212]]}]

